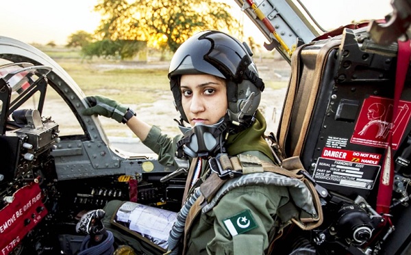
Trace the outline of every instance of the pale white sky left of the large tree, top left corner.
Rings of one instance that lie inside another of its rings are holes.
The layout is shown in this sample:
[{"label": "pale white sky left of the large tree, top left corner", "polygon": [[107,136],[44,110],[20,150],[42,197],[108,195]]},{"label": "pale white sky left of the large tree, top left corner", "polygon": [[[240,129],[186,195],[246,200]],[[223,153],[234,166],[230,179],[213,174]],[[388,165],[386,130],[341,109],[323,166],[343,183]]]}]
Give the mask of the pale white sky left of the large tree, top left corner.
[{"label": "pale white sky left of the large tree, top left corner", "polygon": [[2,1],[0,35],[45,44],[53,40],[66,44],[71,33],[92,33],[100,15],[93,11],[97,0],[14,0]]}]

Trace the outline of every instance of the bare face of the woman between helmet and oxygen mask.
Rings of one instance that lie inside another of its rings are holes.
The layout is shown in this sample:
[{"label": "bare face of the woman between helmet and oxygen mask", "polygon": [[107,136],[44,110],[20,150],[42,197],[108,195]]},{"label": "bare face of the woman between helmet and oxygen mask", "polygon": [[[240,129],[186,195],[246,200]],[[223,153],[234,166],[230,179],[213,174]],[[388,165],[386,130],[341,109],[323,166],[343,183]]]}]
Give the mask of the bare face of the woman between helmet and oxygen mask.
[{"label": "bare face of the woman between helmet and oxygen mask", "polygon": [[216,124],[227,111],[225,81],[213,75],[182,75],[182,106],[191,126]]}]

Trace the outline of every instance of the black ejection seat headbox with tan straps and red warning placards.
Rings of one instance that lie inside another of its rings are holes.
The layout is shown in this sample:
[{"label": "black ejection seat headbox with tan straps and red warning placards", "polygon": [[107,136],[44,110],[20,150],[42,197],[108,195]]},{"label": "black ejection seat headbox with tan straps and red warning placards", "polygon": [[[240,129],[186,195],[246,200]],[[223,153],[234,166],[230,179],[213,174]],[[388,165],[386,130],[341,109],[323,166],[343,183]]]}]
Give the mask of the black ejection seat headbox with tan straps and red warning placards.
[{"label": "black ejection seat headbox with tan straps and red warning placards", "polygon": [[389,135],[397,164],[410,163],[399,155],[411,129],[411,88],[393,116],[397,47],[375,51],[366,33],[345,29],[296,49],[277,133],[286,157],[300,156],[319,184],[352,199],[376,192]]}]

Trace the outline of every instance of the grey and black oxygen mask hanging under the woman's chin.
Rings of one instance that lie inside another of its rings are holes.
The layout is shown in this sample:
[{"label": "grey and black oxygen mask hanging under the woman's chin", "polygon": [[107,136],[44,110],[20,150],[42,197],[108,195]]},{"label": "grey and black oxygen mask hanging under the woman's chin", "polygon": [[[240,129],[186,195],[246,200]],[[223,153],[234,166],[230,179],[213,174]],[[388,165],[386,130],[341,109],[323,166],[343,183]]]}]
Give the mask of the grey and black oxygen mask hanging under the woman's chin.
[{"label": "grey and black oxygen mask hanging under the woman's chin", "polygon": [[177,157],[213,157],[225,152],[227,115],[212,125],[197,123],[193,127],[179,126],[184,137],[177,142]]}]

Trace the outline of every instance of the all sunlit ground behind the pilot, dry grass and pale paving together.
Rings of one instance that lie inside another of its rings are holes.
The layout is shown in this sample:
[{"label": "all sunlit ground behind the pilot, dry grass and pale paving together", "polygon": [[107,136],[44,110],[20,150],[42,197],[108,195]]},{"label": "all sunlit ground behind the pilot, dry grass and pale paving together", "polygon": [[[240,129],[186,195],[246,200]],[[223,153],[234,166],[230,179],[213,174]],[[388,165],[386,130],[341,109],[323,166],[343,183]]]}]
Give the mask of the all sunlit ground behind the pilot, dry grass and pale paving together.
[{"label": "all sunlit ground behind the pilot, dry grass and pale paving together", "polygon": [[[118,59],[83,59],[79,51],[65,48],[38,48],[55,60],[76,81],[84,94],[102,94],[138,110],[138,115],[161,126],[170,135],[179,133],[173,118],[178,114],[173,107],[173,98],[167,78],[169,61],[158,62],[153,57],[149,62],[120,61]],[[282,107],[281,97],[288,83],[289,65],[283,60],[255,58],[266,90],[260,107],[266,113],[268,124],[277,122]],[[281,91],[281,96],[279,96]],[[116,137],[133,137],[125,125],[100,118],[105,133]],[[272,128],[275,129],[275,128]],[[271,130],[272,130],[271,129]]]}]

